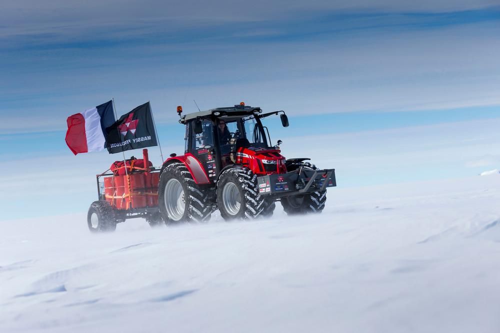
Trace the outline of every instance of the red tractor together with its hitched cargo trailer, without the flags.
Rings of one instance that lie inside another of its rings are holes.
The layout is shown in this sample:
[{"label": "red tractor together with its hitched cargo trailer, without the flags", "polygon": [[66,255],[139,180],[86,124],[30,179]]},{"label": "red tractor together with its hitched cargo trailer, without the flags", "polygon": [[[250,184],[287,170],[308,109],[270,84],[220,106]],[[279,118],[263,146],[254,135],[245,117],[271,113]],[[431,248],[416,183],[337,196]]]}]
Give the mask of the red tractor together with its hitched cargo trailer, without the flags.
[{"label": "red tractor together with its hitched cargo trailer, without the flags", "polygon": [[262,113],[244,103],[181,116],[184,155],[170,154],[157,169],[144,149],[143,159],[115,162],[111,173],[97,175],[99,200],[88,211],[88,228],[112,231],[134,217],[151,226],[205,222],[215,209],[224,220],[269,217],[275,201],[289,215],[321,212],[326,188],[336,186],[335,170],[285,159],[281,141],[271,145],[261,122],[278,114],[287,127],[284,111]]}]

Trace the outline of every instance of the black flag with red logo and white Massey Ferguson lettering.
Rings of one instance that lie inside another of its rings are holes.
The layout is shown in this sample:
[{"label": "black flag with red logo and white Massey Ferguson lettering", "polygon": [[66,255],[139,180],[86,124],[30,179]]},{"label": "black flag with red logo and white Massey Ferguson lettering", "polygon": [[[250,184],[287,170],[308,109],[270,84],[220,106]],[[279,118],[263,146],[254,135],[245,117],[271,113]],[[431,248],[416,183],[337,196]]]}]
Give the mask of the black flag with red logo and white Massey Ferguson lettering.
[{"label": "black flag with red logo and white Massey Ferguson lettering", "polygon": [[109,154],[158,144],[149,102],[122,115],[106,128],[106,133],[106,148]]}]

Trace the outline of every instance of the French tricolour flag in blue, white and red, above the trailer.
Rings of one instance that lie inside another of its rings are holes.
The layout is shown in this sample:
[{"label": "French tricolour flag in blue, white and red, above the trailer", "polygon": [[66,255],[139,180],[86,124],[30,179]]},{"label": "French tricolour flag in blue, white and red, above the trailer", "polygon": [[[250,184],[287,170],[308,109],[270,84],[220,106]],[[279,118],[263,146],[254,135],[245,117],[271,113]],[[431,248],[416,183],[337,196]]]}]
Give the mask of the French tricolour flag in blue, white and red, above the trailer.
[{"label": "French tricolour flag in blue, white and red, above the trailer", "polygon": [[112,101],[97,105],[67,117],[66,144],[73,154],[103,150],[106,145],[106,127],[114,118]]}]

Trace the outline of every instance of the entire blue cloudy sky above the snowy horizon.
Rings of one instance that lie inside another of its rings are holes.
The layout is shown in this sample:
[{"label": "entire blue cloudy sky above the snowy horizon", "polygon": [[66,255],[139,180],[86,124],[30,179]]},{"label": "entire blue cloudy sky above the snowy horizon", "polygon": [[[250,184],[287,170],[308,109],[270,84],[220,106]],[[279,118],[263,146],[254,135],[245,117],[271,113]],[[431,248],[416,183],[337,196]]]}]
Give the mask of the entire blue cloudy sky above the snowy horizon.
[{"label": "entire blue cloudy sky above the snowy horizon", "polygon": [[193,100],[201,109],[245,101],[285,110],[289,128],[267,118],[271,139],[283,140],[287,157],[331,163],[322,166],[337,169],[339,186],[500,168],[492,126],[500,121],[497,0],[3,0],[1,7],[8,218],[24,207],[26,191],[44,214],[53,193],[68,193],[66,213],[87,209],[92,175],[119,156],[73,156],[65,120],[111,98],[118,117],[151,102],[164,156],[182,150],[177,105],[188,113],[197,110]]}]

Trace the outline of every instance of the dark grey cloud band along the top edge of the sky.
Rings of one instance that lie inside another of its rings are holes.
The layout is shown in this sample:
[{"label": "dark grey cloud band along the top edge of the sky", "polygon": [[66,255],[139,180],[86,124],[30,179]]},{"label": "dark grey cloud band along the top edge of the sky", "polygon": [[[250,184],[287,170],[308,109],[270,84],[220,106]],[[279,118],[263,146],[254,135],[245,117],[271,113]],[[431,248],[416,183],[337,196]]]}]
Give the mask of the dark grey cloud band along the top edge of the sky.
[{"label": "dark grey cloud band along the top edge of the sky", "polygon": [[355,1],[123,1],[123,0],[5,0],[0,12],[0,36],[33,39],[64,35],[126,30],[132,35],[155,26],[164,33],[186,28],[216,27],[224,23],[233,28],[246,22],[260,25],[297,18],[314,17],[317,13],[443,13],[481,10],[498,5],[494,0],[466,1],[397,1],[376,3]]}]

